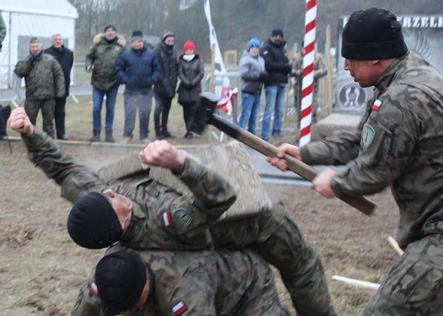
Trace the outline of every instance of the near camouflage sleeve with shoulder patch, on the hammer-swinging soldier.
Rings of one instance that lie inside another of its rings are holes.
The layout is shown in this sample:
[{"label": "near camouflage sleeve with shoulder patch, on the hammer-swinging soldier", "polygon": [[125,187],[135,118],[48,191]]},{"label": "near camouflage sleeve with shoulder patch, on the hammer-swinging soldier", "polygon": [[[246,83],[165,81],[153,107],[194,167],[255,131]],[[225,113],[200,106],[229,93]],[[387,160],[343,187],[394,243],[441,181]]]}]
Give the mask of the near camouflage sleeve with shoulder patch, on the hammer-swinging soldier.
[{"label": "near camouflage sleeve with shoulder patch, on the hammer-swinging soldier", "polygon": [[[411,90],[408,89],[413,94]],[[359,156],[345,172],[332,179],[331,186],[338,197],[377,193],[410,163],[422,127],[413,109],[414,98],[397,100],[398,95],[401,91],[391,91],[390,95],[380,98],[381,106],[372,111],[364,123]]]}]

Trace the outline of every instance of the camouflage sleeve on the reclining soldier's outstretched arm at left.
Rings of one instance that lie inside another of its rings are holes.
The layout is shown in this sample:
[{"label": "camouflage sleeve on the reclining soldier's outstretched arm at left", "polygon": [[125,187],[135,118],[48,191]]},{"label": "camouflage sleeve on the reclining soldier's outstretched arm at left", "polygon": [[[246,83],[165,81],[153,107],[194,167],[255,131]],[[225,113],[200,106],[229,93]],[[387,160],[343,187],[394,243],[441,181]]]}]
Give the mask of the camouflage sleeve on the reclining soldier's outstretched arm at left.
[{"label": "camouflage sleeve on the reclining soldier's outstretched arm at left", "polygon": [[70,202],[75,202],[90,191],[100,192],[106,187],[95,173],[76,163],[51,137],[37,128],[33,136],[24,138],[24,143],[30,161],[62,186],[62,196]]}]

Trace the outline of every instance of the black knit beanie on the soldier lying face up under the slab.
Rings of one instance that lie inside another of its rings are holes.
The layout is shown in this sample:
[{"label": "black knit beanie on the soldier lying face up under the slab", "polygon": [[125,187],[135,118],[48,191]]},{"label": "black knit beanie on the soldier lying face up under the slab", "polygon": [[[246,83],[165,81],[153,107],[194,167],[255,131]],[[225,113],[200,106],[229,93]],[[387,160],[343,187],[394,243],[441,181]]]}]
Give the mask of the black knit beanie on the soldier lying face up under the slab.
[{"label": "black knit beanie on the soldier lying face up under the slab", "polygon": [[123,234],[116,212],[98,192],[90,192],[74,203],[67,226],[75,243],[89,249],[109,247]]}]

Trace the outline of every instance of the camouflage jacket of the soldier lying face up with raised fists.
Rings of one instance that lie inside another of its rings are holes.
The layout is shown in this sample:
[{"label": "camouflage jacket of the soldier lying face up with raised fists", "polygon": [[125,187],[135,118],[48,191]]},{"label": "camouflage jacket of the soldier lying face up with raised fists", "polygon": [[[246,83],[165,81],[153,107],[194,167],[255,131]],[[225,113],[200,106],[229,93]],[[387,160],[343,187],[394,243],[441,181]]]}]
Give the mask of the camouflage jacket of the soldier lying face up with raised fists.
[{"label": "camouflage jacket of the soldier lying face up with raised fists", "polygon": [[178,179],[193,194],[181,195],[151,179],[147,172],[108,184],[89,168],[77,164],[45,133],[24,139],[36,166],[62,186],[62,197],[75,202],[83,195],[106,188],[133,201],[131,223],[120,241],[141,249],[201,249],[213,246],[208,227],[236,199],[233,188],[216,173],[186,158]]}]

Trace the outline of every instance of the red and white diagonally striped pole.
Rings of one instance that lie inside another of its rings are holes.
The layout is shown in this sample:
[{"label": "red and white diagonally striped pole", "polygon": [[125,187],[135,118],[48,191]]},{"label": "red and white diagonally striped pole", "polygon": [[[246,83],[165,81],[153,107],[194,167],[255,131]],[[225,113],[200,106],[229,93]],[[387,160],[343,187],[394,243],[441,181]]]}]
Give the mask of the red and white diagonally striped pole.
[{"label": "red and white diagonally striped pole", "polygon": [[316,44],[317,1],[306,0],[305,56],[303,56],[302,106],[300,109],[299,146],[311,141],[312,96],[314,92],[314,56]]}]

